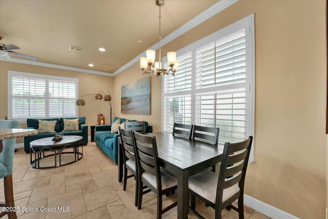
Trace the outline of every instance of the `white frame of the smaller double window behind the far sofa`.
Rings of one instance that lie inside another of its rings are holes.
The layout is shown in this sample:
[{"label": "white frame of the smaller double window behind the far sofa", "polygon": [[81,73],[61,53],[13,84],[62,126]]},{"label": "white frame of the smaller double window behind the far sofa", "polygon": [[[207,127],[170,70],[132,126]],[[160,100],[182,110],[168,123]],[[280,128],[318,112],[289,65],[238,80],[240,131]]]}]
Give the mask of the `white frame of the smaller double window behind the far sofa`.
[{"label": "white frame of the smaller double window behind the far sofa", "polygon": [[[22,77],[33,77],[33,78],[40,78],[45,79],[46,84],[46,94],[49,93],[49,81],[67,81],[67,82],[74,82],[75,83],[75,100],[78,98],[78,78],[75,77],[63,77],[63,76],[56,76],[56,75],[47,75],[47,74],[36,74],[36,73],[29,73],[29,72],[20,72],[20,71],[8,71],[8,118],[10,120],[17,120],[20,123],[26,123],[27,118],[59,118],[63,116],[49,116],[49,94],[45,95],[45,117],[13,117],[12,115],[12,77],[13,76],[22,76]],[[59,97],[61,99],[63,97]],[[74,116],[64,116],[66,118],[69,117],[78,117],[78,107],[75,105],[75,115]]]}]

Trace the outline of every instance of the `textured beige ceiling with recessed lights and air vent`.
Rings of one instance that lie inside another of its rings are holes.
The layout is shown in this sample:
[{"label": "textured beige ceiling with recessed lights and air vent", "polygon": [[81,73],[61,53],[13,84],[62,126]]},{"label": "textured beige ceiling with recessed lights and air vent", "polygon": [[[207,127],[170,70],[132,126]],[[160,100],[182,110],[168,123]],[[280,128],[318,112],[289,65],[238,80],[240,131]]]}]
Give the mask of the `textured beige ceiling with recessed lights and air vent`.
[{"label": "textured beige ceiling with recessed lights and air vent", "polygon": [[[162,38],[217,2],[166,0]],[[158,13],[154,0],[0,0],[1,43],[14,44],[20,47],[16,52],[39,62],[113,73],[158,41]],[[69,50],[70,45],[83,51]]]}]

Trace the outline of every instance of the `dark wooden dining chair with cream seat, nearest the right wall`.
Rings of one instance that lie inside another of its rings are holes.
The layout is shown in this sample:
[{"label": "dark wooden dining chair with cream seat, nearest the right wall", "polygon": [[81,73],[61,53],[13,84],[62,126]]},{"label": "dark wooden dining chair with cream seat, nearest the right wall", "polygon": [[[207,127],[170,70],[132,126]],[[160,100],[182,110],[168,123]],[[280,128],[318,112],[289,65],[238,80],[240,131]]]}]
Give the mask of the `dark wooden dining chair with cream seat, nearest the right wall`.
[{"label": "dark wooden dining chair with cream seat, nearest the right wall", "polygon": [[[245,175],[250,157],[253,136],[239,143],[224,144],[219,173],[203,171],[189,177],[191,206],[189,209],[203,218],[195,210],[195,197],[215,209],[215,218],[221,218],[221,211],[232,208],[244,218],[243,195]],[[238,199],[238,207],[232,203]]]}]

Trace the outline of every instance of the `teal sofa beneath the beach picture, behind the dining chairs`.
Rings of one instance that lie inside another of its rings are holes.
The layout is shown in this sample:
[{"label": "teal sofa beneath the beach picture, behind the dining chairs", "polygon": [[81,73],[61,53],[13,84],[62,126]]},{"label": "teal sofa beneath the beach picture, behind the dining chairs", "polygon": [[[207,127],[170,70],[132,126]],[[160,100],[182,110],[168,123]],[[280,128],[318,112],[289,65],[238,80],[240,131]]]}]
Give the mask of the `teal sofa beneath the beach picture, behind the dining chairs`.
[{"label": "teal sofa beneath the beach picture, behind the dining chairs", "polygon": [[[118,119],[114,117],[113,123]],[[126,122],[126,118],[119,118],[121,124]],[[129,120],[136,121],[136,120]],[[112,125],[98,125],[95,127],[95,142],[97,146],[104,151],[104,153],[109,156],[117,164],[117,154],[118,154],[118,141],[117,137],[119,134],[111,133]],[[148,125],[148,122],[145,122],[146,133],[153,132],[153,127]]]}]

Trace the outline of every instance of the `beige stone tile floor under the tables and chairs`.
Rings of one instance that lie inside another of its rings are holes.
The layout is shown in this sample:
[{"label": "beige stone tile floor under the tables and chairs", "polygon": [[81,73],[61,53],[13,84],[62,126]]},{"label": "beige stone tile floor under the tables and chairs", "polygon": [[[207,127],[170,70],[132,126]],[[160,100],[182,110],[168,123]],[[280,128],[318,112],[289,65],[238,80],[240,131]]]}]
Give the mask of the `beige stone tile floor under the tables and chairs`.
[{"label": "beige stone tile floor under the tables and chairs", "polygon": [[[33,169],[30,156],[19,148],[14,155],[13,188],[19,219],[25,218],[155,218],[156,195],[144,195],[142,208],[134,207],[133,178],[123,191],[117,181],[117,166],[95,143],[84,146],[83,158],[73,164],[52,168]],[[53,157],[45,159],[53,162]],[[0,201],[4,201],[3,179],[0,180]],[[175,196],[163,196],[163,206],[176,200]],[[196,210],[206,218],[214,218],[214,210],[197,201]],[[24,207],[24,209],[23,209]],[[62,208],[58,211],[57,208]],[[38,211],[32,211],[33,208]],[[41,209],[49,211],[41,211]],[[51,211],[55,208],[56,211]],[[67,209],[66,209],[67,208]],[[22,209],[27,212],[22,212]],[[63,211],[66,210],[66,211]],[[263,214],[245,207],[245,218],[264,219]],[[163,214],[163,218],[177,218],[176,207]],[[238,218],[234,210],[222,211],[223,218]],[[8,217],[3,217],[7,219]],[[189,218],[196,218],[189,213]]]}]

